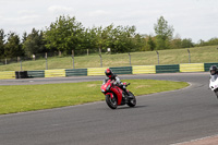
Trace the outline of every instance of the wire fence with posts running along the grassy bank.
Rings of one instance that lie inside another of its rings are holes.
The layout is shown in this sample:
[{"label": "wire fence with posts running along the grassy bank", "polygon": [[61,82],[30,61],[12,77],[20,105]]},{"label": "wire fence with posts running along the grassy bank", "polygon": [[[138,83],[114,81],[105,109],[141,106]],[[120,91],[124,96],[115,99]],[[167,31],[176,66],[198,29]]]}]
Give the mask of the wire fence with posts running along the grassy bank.
[{"label": "wire fence with posts running along the grassy bank", "polygon": [[[0,59],[0,71],[32,71],[105,67],[218,62],[217,47],[111,53],[110,50],[45,52]],[[213,58],[213,59],[211,59]]]}]

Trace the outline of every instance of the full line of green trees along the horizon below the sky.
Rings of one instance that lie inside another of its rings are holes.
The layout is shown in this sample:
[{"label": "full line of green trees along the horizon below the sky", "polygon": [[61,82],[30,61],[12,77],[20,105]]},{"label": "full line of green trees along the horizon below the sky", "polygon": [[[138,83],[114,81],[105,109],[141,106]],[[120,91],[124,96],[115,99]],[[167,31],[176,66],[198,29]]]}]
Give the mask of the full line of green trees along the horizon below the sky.
[{"label": "full line of green trees along the horizon below the sky", "polygon": [[0,29],[0,59],[32,57],[45,52],[62,52],[71,55],[78,52],[107,51],[111,53],[153,51],[161,49],[191,48],[194,46],[218,45],[218,38],[208,41],[199,40],[194,44],[191,38],[173,37],[173,26],[160,16],[154,24],[155,36],[136,33],[135,26],[109,26],[85,28],[75,17],[61,15],[46,31],[32,29],[24,33],[22,38],[10,32]]}]

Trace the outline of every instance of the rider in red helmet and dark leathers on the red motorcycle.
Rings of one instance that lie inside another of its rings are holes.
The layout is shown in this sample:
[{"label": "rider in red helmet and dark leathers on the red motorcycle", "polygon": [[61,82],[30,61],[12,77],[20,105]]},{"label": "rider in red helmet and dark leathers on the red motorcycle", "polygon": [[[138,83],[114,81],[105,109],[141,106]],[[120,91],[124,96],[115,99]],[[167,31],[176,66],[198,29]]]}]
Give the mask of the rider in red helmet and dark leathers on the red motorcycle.
[{"label": "rider in red helmet and dark leathers on the red motorcycle", "polygon": [[111,80],[111,81],[114,81],[114,85],[119,86],[126,95],[129,98],[132,98],[131,95],[128,93],[126,88],[125,88],[125,85],[123,85],[123,83],[120,81],[120,78],[118,77],[118,75],[116,75],[111,69],[106,69],[105,71],[105,74],[106,74],[106,78],[105,78],[105,83],[108,81],[108,80]]}]

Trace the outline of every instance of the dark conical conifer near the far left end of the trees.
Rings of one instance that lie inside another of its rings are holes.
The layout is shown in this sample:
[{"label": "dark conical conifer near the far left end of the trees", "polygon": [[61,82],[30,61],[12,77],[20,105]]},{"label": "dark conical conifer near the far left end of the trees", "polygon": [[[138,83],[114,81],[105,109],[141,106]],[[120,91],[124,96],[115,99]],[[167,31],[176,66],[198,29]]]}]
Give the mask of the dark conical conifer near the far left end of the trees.
[{"label": "dark conical conifer near the far left end of the trees", "polygon": [[21,46],[21,40],[17,34],[9,33],[8,40],[4,47],[7,58],[23,57],[24,51]]}]

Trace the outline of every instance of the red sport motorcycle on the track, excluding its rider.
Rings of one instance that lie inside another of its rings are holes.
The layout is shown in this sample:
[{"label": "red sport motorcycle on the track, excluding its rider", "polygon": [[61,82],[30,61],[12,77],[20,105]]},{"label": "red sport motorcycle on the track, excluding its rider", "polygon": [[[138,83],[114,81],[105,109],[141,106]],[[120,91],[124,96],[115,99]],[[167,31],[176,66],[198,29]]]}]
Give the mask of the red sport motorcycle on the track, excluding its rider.
[{"label": "red sport motorcycle on the track, excluding its rider", "polygon": [[[123,83],[123,85],[130,85]],[[136,105],[135,96],[128,90],[130,96],[128,96],[119,86],[113,85],[113,81],[108,80],[100,87],[102,94],[106,96],[106,102],[111,109],[117,109],[118,106],[128,105],[134,107]]]}]

